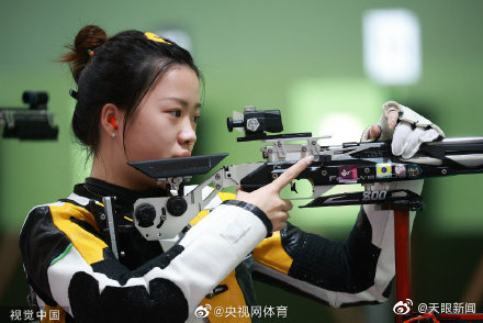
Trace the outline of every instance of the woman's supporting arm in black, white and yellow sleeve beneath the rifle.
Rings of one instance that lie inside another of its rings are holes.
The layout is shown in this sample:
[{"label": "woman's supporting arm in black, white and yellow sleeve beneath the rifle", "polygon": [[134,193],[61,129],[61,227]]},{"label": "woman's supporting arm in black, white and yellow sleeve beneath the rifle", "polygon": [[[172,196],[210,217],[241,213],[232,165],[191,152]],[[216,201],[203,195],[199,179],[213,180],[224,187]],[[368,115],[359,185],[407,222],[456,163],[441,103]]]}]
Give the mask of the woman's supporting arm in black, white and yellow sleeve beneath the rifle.
[{"label": "woman's supporting arm in black, white and yellow sleeve beneath the rifle", "polygon": [[288,224],[254,250],[255,278],[335,308],[384,302],[395,274],[393,212],[361,207],[345,242]]}]

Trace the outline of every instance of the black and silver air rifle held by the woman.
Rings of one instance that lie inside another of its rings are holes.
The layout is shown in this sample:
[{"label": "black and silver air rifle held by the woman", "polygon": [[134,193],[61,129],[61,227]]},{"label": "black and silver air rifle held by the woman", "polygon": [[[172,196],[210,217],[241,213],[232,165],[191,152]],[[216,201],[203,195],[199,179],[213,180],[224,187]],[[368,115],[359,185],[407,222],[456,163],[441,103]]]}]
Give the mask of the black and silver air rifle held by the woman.
[{"label": "black and silver air rifle held by the woman", "polygon": [[[186,180],[209,172],[228,154],[130,163],[158,183],[167,182],[172,194],[135,202],[134,223],[146,240],[159,240],[166,250],[221,190],[240,186],[245,191],[254,191],[308,155],[315,157],[314,162],[296,179],[310,180],[313,193],[305,198],[311,201],[300,208],[378,204],[382,209],[397,210],[408,205],[411,210],[419,210],[423,202],[418,194],[409,190],[390,190],[389,185],[375,188],[373,183],[483,172],[483,137],[445,138],[423,144],[415,156],[403,159],[392,155],[391,142],[324,146],[319,142],[329,136],[314,137],[311,133],[268,135],[267,132],[283,131],[279,110],[257,111],[255,107],[247,107],[244,114],[227,119],[227,127],[245,132],[238,142],[266,143],[261,148],[266,160],[223,166],[190,191],[184,190]],[[364,190],[323,196],[335,186],[353,183],[362,185]],[[294,182],[291,189],[296,191]]]}]

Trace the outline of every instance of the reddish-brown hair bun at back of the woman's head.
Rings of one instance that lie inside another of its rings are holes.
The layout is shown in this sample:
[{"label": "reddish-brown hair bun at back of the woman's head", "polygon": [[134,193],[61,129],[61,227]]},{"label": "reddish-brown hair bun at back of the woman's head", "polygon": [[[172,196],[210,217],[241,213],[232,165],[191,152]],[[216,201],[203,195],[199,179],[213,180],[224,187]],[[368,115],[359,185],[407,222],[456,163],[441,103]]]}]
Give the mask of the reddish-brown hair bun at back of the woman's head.
[{"label": "reddish-brown hair bun at back of the woman's head", "polygon": [[74,46],[67,46],[71,52],[61,56],[60,62],[69,63],[74,79],[77,81],[80,73],[91,58],[89,49],[94,51],[108,41],[105,32],[97,25],[82,27],[74,41]]}]

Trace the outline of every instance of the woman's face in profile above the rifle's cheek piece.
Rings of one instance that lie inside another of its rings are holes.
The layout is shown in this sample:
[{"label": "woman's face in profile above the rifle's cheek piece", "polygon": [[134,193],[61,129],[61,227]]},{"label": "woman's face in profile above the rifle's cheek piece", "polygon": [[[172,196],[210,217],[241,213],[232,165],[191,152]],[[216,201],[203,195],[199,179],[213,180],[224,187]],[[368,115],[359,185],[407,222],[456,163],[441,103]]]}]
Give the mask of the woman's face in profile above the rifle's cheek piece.
[{"label": "woman's face in profile above the rifle's cheek piece", "polygon": [[170,67],[146,93],[126,129],[128,162],[191,156],[200,82],[188,66]]}]

